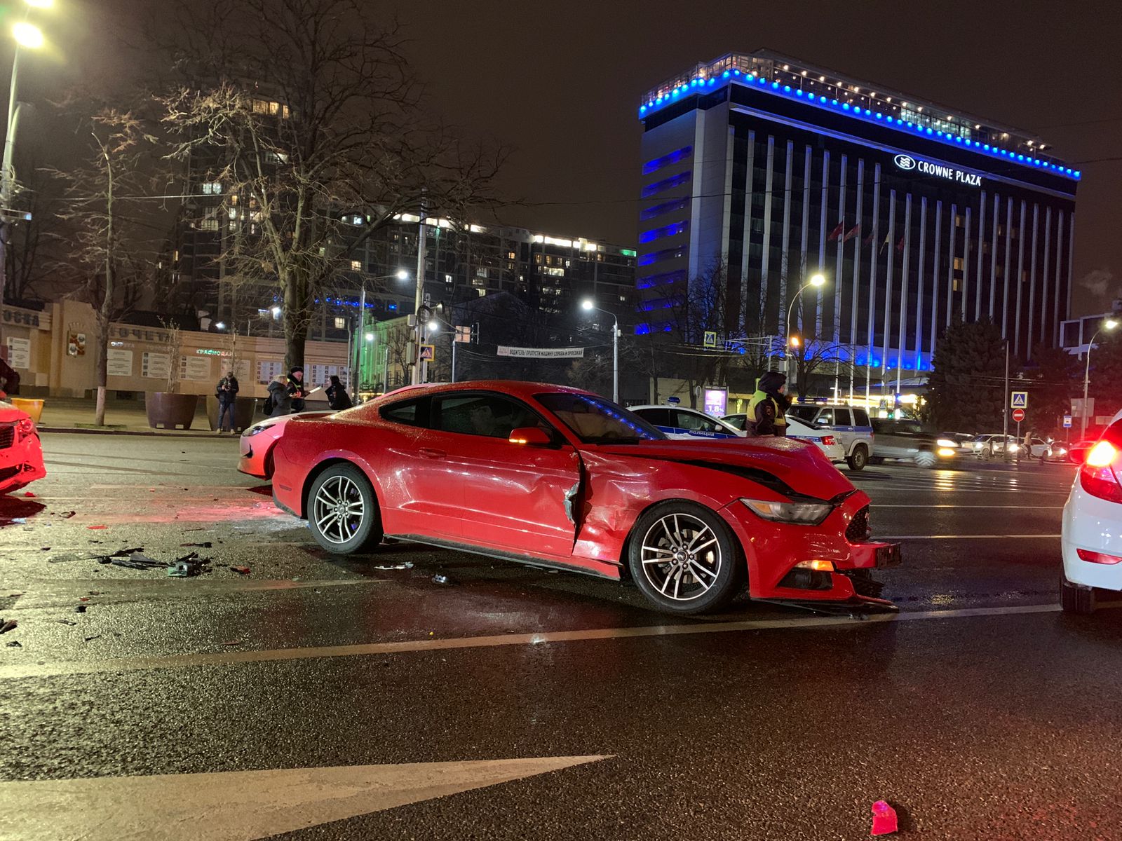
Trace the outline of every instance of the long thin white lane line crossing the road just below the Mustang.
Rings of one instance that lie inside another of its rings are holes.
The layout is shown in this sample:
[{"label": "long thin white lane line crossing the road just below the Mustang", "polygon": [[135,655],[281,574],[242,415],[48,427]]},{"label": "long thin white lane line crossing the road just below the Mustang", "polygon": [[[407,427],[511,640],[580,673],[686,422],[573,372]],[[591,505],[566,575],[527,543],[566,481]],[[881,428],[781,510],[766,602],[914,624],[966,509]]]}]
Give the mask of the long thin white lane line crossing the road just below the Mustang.
[{"label": "long thin white lane line crossing the road just below the Mustang", "polygon": [[[1122,607],[1122,602],[1119,602]],[[1105,607],[1110,607],[1104,604]],[[137,672],[157,668],[187,668],[242,663],[276,663],[280,660],[315,659],[327,657],[362,657],[370,655],[440,651],[456,648],[496,648],[500,646],[531,646],[549,643],[574,643],[598,639],[627,639],[638,637],[673,637],[693,634],[727,634],[730,631],[785,630],[806,628],[859,628],[868,622],[910,622],[923,619],[963,619],[1020,613],[1054,613],[1059,604],[1024,604],[1002,608],[962,608],[958,610],[929,610],[914,613],[874,613],[865,621],[848,617],[800,616],[791,619],[748,619],[730,622],[697,625],[656,625],[637,628],[591,628],[570,631],[542,631],[537,634],[504,634],[496,636],[450,637],[444,639],[413,639],[397,643],[362,643],[358,645],[320,646],[307,648],[272,648],[247,651],[211,651],[206,654],[171,654],[140,657],[118,657],[102,660],[72,660],[58,663],[28,663],[0,666],[0,680],[18,677],[50,677],[59,675],[98,674],[102,672]]]}]

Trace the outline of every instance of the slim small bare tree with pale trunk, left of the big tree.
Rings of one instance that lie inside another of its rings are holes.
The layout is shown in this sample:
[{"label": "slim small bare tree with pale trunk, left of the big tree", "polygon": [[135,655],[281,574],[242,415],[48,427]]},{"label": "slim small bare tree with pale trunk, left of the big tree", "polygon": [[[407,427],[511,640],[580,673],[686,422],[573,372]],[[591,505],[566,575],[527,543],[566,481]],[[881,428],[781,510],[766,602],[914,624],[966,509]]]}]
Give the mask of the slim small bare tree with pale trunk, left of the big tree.
[{"label": "slim small bare tree with pale trunk, left of the big tree", "polygon": [[109,325],[136,304],[151,272],[148,235],[135,202],[150,188],[148,164],[156,138],[134,111],[105,107],[82,122],[90,139],[89,157],[72,169],[48,172],[64,185],[58,218],[72,229],[65,239],[68,262],[82,277],[77,295],[95,312],[94,423],[100,426],[105,422]]}]

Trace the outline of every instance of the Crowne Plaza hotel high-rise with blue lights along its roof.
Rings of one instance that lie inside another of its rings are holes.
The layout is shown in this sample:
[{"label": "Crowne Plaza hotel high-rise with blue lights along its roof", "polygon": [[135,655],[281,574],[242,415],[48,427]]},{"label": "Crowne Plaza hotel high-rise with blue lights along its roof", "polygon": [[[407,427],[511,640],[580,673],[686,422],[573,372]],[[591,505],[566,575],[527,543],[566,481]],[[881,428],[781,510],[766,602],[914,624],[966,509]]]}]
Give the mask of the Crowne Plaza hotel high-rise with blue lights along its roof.
[{"label": "Crowne Plaza hotel high-rise with blue lights along its roof", "polygon": [[726,340],[798,333],[885,383],[929,370],[955,317],[1022,359],[1059,342],[1080,174],[1039,138],[765,50],[669,80],[638,117],[638,332],[719,267]]}]

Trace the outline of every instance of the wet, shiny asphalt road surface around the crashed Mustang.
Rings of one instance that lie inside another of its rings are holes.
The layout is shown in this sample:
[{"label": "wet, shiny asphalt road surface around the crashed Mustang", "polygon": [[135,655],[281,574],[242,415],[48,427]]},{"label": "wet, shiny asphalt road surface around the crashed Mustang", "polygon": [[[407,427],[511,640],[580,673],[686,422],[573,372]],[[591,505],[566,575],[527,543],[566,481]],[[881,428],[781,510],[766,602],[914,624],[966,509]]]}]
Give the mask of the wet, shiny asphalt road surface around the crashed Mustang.
[{"label": "wet, shiny asphalt road surface around the crashed Mustang", "polygon": [[[903,543],[896,620],[677,619],[478,556],[325,555],[231,438],[44,445],[0,500],[0,779],[595,755],[289,834],[857,839],[883,798],[916,838],[1122,837],[1122,610],[1056,610],[1074,468],[852,475]],[[210,571],[66,560],[127,547]]]}]

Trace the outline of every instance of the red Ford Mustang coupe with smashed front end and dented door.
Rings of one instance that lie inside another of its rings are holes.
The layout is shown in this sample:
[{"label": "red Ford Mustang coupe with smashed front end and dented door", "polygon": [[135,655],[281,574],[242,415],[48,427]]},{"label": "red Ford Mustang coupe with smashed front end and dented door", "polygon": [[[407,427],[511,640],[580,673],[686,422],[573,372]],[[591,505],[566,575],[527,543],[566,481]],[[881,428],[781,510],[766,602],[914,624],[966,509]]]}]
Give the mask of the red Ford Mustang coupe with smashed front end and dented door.
[{"label": "red Ford Mustang coupe with smashed front end and dented door", "polygon": [[607,579],[659,608],[755,599],[893,609],[870,571],[868,497],[817,447],[668,441],[597,395],[533,382],[405,388],[293,418],[274,451],[278,506],[334,553],[383,537]]}]

